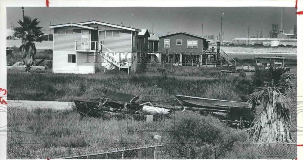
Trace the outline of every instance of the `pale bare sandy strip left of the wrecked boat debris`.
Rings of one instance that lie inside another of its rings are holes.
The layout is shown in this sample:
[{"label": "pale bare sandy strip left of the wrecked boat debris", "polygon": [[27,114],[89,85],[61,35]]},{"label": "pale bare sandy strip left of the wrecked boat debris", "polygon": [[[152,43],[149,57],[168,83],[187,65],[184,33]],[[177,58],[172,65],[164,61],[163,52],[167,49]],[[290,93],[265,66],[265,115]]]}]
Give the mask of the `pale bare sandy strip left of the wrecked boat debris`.
[{"label": "pale bare sandy strip left of the wrecked boat debris", "polygon": [[32,110],[34,108],[52,108],[56,110],[60,109],[72,109],[73,102],[56,102],[56,101],[33,101],[33,100],[18,100],[18,101],[7,101],[8,107],[18,107],[25,108],[27,110]]}]

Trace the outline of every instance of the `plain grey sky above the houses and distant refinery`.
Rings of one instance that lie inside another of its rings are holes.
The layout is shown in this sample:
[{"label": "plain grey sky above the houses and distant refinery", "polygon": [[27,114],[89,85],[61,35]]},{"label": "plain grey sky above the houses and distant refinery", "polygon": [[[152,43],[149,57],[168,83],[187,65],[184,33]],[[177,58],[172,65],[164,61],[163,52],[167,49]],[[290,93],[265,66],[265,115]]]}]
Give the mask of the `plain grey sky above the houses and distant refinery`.
[{"label": "plain grey sky above the houses and distant refinery", "polygon": [[[218,36],[221,31],[223,15],[224,39],[247,37],[248,26],[251,36],[269,36],[272,24],[280,29],[282,7],[25,7],[26,16],[38,18],[43,30],[52,25],[78,23],[83,21],[102,21],[112,24],[123,24],[133,28],[152,29],[154,33],[165,35],[168,32],[188,32],[191,34]],[[284,7],[283,29],[286,33],[297,24],[295,7]],[[7,7],[7,28],[11,22],[18,27],[22,18],[21,7]],[[49,34],[49,31],[44,31]],[[53,32],[51,32],[53,33]]]}]

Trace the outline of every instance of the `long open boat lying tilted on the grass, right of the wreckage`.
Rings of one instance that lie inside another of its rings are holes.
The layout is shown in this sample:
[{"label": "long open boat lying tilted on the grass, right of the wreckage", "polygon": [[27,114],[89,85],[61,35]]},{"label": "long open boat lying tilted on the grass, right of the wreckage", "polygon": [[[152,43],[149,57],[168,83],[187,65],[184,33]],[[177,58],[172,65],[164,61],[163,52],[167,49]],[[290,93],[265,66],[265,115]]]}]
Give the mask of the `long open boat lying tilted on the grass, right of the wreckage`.
[{"label": "long open boat lying tilted on the grass, right of the wreckage", "polygon": [[249,103],[228,100],[216,100],[201,97],[175,95],[183,106],[228,111],[230,108],[251,109]]}]

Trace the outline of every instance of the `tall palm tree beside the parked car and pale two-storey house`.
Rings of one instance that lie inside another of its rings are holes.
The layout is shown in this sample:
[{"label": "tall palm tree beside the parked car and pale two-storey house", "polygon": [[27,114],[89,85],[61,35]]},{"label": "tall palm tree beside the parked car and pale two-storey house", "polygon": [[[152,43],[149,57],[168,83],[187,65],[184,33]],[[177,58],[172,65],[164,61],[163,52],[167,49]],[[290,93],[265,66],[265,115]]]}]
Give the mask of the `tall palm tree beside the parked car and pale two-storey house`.
[{"label": "tall palm tree beside the parked car and pale two-storey house", "polygon": [[22,65],[26,65],[26,72],[30,72],[30,66],[35,64],[35,55],[37,52],[35,42],[42,42],[41,36],[43,32],[40,30],[42,27],[38,27],[39,23],[37,18],[32,20],[30,17],[24,16],[23,21],[18,21],[21,27],[14,29],[14,37],[21,38],[22,40],[22,45],[19,49],[22,55]]}]

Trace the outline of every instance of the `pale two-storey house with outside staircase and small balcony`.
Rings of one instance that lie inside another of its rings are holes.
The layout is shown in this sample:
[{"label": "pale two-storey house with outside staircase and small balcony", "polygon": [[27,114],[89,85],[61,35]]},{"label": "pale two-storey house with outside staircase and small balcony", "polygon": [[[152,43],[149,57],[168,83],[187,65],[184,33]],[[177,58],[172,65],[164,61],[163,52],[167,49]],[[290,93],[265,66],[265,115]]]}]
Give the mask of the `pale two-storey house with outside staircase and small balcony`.
[{"label": "pale two-storey house with outside staircase and small balcony", "polygon": [[137,69],[134,62],[141,47],[139,29],[100,21],[57,24],[50,28],[54,29],[53,73]]}]

